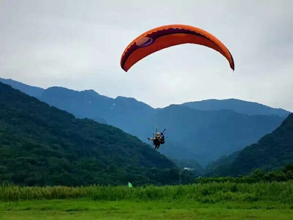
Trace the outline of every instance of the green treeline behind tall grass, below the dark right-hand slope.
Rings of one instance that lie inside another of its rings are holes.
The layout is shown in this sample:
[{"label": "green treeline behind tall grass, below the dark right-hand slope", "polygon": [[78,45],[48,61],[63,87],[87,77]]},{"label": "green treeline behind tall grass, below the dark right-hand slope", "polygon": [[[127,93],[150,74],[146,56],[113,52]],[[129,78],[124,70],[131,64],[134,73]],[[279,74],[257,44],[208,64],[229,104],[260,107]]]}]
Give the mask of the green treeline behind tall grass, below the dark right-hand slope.
[{"label": "green treeline behind tall grass, below the dark right-hand slope", "polygon": [[293,180],[293,164],[286,165],[280,171],[272,171],[265,173],[260,169],[256,169],[251,175],[248,176],[213,176],[213,177],[198,177],[195,183],[211,183],[211,182],[233,182],[233,183],[256,183],[256,182],[284,182]]}]

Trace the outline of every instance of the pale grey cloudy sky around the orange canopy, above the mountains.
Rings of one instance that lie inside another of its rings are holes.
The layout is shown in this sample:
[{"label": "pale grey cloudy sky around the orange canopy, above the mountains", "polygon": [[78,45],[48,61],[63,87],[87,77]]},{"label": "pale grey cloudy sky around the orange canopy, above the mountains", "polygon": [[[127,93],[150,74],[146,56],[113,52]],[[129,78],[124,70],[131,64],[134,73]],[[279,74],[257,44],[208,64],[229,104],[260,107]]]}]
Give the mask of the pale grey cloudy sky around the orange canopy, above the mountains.
[{"label": "pale grey cloudy sky around the orange canopy, above the mountains", "polygon": [[[237,98],[293,111],[292,8],[292,0],[0,0],[0,77],[155,108]],[[161,50],[127,73],[120,67],[135,37],[173,23],[216,36],[235,71],[194,44]]]}]

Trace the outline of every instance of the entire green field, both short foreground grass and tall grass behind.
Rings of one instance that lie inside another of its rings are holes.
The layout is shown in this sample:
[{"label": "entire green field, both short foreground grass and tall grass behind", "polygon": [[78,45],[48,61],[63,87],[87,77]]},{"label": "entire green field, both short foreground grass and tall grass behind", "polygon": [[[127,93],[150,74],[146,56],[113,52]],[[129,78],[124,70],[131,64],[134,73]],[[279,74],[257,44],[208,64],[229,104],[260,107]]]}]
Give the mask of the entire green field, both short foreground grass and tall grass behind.
[{"label": "entire green field, both short foreground grass and tall grass behind", "polygon": [[292,220],[293,182],[0,187],[0,220]]}]

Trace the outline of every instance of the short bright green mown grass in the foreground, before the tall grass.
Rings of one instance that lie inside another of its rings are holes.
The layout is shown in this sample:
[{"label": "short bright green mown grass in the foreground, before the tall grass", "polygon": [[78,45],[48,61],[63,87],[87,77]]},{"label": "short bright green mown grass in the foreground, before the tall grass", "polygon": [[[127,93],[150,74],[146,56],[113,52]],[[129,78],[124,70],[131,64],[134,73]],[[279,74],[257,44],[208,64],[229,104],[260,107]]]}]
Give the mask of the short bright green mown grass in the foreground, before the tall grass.
[{"label": "short bright green mown grass in the foreground, before the tall grass", "polygon": [[193,200],[56,199],[0,203],[0,220],[292,220],[292,217],[291,205],[270,201],[203,204]]}]

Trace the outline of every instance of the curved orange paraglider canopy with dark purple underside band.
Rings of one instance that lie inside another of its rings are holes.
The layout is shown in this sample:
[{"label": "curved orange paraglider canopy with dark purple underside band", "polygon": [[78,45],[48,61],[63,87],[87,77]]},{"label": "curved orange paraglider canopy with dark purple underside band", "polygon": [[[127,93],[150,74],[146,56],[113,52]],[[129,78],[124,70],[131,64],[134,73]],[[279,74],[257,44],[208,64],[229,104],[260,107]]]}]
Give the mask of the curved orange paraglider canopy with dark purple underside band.
[{"label": "curved orange paraglider canopy with dark purple underside band", "polygon": [[200,44],[220,52],[229,61],[234,70],[234,61],[230,51],[216,37],[197,27],[171,24],[151,29],[134,39],[124,50],[120,65],[128,69],[144,57],[178,44]]}]

